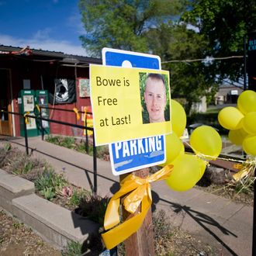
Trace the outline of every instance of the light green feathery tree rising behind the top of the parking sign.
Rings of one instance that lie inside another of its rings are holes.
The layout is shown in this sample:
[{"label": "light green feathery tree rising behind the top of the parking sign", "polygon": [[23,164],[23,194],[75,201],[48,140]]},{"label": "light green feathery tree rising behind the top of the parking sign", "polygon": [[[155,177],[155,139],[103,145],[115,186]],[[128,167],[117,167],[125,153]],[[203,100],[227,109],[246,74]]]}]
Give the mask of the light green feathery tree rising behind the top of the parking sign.
[{"label": "light green feathery tree rising behind the top of the parking sign", "polygon": [[80,0],[82,45],[95,57],[103,47],[147,53],[147,31],[174,19],[182,6],[178,0]]}]

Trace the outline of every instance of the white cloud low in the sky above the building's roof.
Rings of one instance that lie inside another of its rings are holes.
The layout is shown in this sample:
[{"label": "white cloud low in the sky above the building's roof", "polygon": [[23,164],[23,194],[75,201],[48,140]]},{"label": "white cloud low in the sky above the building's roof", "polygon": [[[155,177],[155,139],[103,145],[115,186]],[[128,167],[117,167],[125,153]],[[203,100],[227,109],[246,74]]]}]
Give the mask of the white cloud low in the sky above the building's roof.
[{"label": "white cloud low in the sky above the building's roof", "polygon": [[35,36],[30,39],[16,38],[9,35],[0,34],[0,44],[12,47],[29,46],[36,50],[61,51],[64,54],[74,54],[87,56],[86,50],[80,45],[74,45],[67,40],[54,40],[47,37],[46,33],[38,31]]}]

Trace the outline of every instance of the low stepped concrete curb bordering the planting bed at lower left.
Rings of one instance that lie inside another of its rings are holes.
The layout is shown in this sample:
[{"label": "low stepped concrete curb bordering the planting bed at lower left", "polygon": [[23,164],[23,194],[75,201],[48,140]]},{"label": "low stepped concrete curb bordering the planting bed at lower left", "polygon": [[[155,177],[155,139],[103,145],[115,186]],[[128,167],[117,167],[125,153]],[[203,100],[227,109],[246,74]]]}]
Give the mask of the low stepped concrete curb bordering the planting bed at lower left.
[{"label": "low stepped concrete curb bordering the planting bed at lower left", "polygon": [[64,248],[71,240],[90,243],[99,224],[42,199],[34,193],[33,182],[0,169],[0,207],[31,227],[43,240]]}]

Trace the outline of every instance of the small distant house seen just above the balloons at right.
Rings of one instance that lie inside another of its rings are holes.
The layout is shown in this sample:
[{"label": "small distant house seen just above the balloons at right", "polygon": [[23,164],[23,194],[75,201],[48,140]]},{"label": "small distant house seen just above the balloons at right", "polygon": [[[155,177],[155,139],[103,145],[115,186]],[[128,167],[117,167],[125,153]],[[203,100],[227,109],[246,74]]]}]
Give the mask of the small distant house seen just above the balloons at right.
[{"label": "small distant house seen just above the balloons at right", "polygon": [[215,95],[215,105],[236,104],[237,98],[244,89],[235,85],[220,85]]}]

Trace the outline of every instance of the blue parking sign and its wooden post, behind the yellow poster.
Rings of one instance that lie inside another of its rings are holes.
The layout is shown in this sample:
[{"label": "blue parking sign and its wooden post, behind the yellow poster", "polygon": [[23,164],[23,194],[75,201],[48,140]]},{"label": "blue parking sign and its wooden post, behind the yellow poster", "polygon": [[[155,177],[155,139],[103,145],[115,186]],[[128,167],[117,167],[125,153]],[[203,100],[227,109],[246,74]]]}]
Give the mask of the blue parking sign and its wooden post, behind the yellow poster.
[{"label": "blue parking sign and its wooden post, behind the yellow poster", "polygon": [[[104,48],[102,50],[102,60],[103,64],[111,66],[121,66],[121,67],[145,67],[153,69],[161,69],[160,57],[149,55],[149,54],[139,54],[123,50],[115,50]],[[132,157],[117,157],[123,155],[123,144],[111,144],[109,145],[109,153],[112,163],[112,172],[114,175],[120,175],[127,173],[138,168],[143,168],[137,171],[133,171],[134,175],[140,178],[147,178],[149,175],[149,169],[145,167],[157,165],[165,161],[165,136],[155,137],[157,140],[161,140],[163,145],[162,150],[154,150],[150,154],[135,154]],[[135,140],[134,144],[147,143],[149,138],[144,138],[141,141]],[[151,139],[153,140],[153,139]],[[126,142],[129,145],[129,142]],[[129,146],[128,146],[129,147]],[[120,153],[120,154],[119,154]],[[141,159],[144,158],[144,161]],[[153,160],[153,161],[152,161]],[[120,182],[125,178],[126,175],[120,176]],[[136,213],[135,213],[136,214]],[[127,220],[132,215],[123,208],[123,219]],[[144,223],[140,230],[135,234],[131,235],[128,239],[124,241],[126,246],[126,255],[129,256],[148,256],[154,255],[154,234],[152,225],[152,213],[149,210],[147,216],[144,219]]]}]

